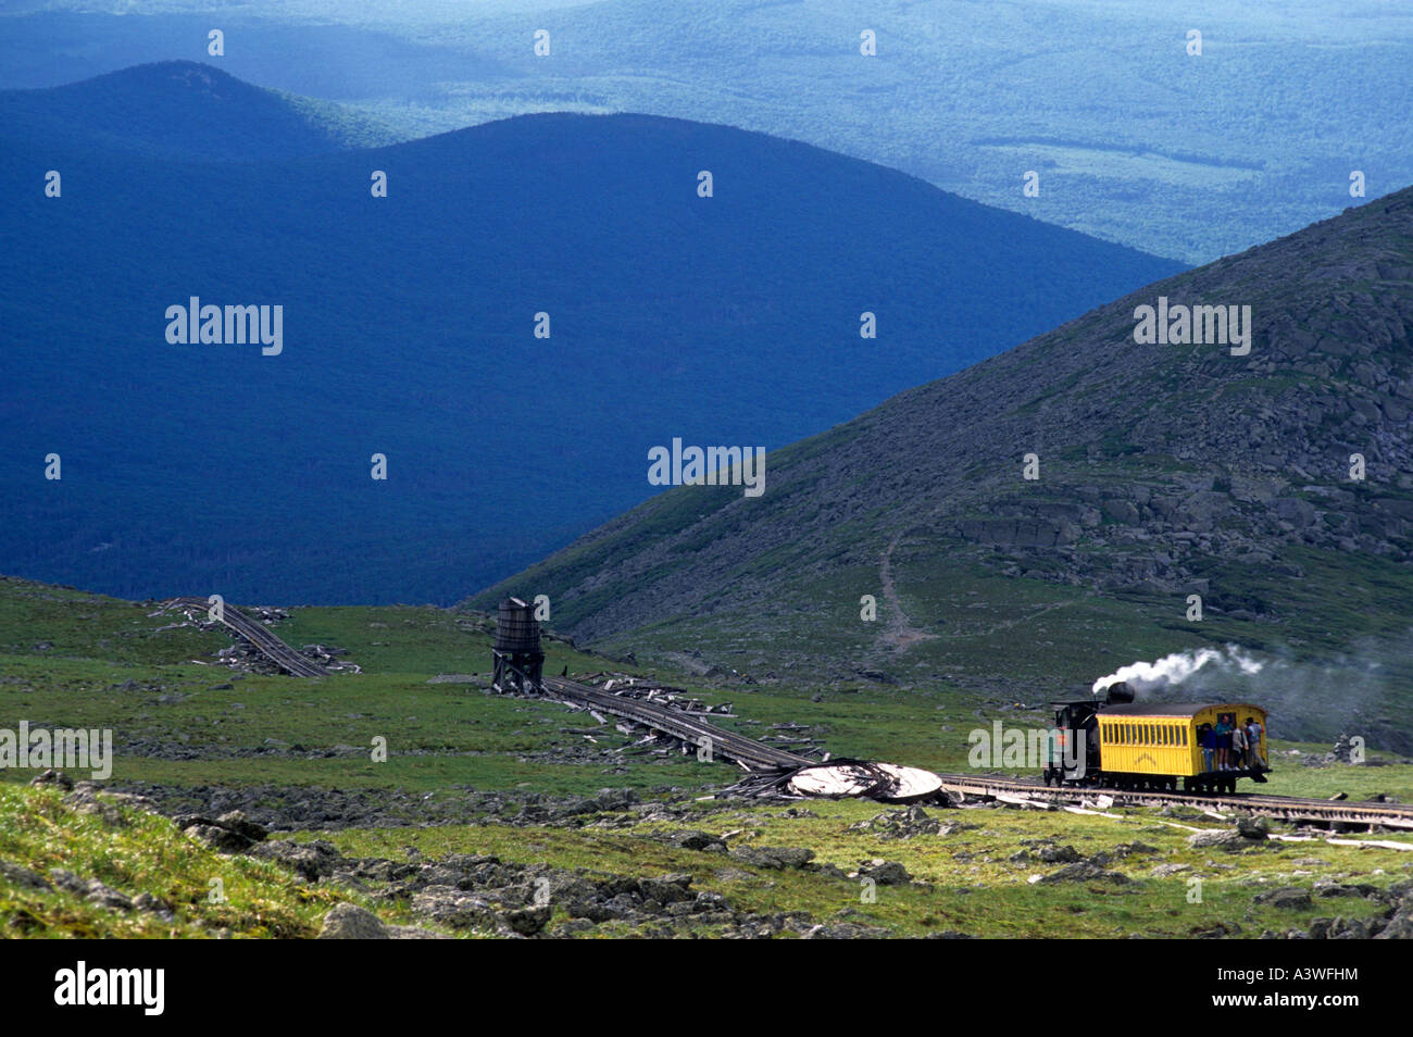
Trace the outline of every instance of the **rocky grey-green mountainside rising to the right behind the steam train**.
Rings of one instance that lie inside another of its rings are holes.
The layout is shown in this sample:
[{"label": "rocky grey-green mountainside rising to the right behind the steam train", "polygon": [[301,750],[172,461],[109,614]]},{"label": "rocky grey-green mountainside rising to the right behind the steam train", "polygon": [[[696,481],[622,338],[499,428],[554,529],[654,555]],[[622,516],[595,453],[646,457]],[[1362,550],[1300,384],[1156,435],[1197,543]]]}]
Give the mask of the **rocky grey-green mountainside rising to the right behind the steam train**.
[{"label": "rocky grey-green mountainside rising to the right behind the steam train", "polygon": [[[1164,305],[1178,332],[1181,307],[1249,307],[1251,352],[1136,342]],[[1409,749],[1410,335],[1406,189],[771,454],[759,499],[663,493],[473,602],[547,593],[562,630],[640,658],[1026,701],[1238,643],[1283,730]]]}]

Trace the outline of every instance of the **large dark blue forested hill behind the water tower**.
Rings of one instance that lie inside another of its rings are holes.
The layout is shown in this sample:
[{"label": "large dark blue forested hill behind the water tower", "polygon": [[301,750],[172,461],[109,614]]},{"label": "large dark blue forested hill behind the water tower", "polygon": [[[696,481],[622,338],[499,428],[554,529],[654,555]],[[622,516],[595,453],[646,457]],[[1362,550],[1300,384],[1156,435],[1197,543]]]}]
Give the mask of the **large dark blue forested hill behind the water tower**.
[{"label": "large dark blue forested hill behind the water tower", "polygon": [[[95,102],[99,147],[75,138],[72,92],[51,92],[52,140],[0,124],[0,572],[129,596],[455,600],[656,492],[653,445],[791,442],[1178,268],[814,147],[647,116],[256,162],[209,161],[219,141],[199,134],[185,162],[105,151],[206,103],[144,82],[126,117]],[[244,96],[232,150],[268,133],[287,153],[285,116]],[[170,345],[164,314],[192,295],[284,307],[283,353]]]}]

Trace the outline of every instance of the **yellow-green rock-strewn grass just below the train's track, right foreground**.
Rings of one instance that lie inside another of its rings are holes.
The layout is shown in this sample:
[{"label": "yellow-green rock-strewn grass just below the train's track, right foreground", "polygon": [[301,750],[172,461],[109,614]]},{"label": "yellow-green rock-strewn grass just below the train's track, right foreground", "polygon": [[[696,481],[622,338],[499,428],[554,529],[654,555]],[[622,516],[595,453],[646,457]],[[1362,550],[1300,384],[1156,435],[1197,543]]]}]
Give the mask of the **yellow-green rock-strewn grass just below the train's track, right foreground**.
[{"label": "yellow-green rock-strewn grass just below the train's track, right foreground", "polygon": [[[807,817],[791,817],[805,811]],[[1217,925],[1241,925],[1239,935],[1259,937],[1266,928],[1304,928],[1316,917],[1368,917],[1375,906],[1359,899],[1316,899],[1310,908],[1276,910],[1255,897],[1282,886],[1310,887],[1318,879],[1364,880],[1375,884],[1407,877],[1410,855],[1388,849],[1355,849],[1324,842],[1260,843],[1238,856],[1187,846],[1190,831],[1159,824],[1146,812],[1121,819],[1020,811],[945,811],[942,822],[976,825],[952,835],[883,841],[873,832],[851,831],[885,807],[858,801],[811,801],[794,808],[753,807],[704,812],[688,826],[731,835],[740,843],[810,846],[817,860],[845,873],[883,858],[901,862],[916,883],[877,886],[865,903],[856,879],[808,870],[767,870],[729,856],[674,849],[651,839],[675,824],[639,824],[629,829],[523,829],[497,825],[421,828],[415,831],[343,831],[331,839],[355,856],[401,856],[415,846],[431,858],[448,853],[493,853],[503,860],[582,867],[595,873],[666,875],[685,872],[694,887],[721,893],[739,911],[804,911],[817,921],[848,920],[882,925],[894,935],[917,937],[957,930],[993,938],[1190,937]],[[1193,822],[1210,826],[1210,821]],[[1413,836],[1405,836],[1413,843]],[[1030,877],[1057,870],[1036,860],[1012,862],[1036,841],[1070,845],[1084,856],[1112,852],[1119,843],[1143,842],[1156,849],[1108,865],[1129,883],[1080,882],[1034,884]],[[1211,863],[1208,863],[1211,862]],[[1238,865],[1232,867],[1232,865]],[[1316,863],[1310,863],[1316,862]],[[1187,865],[1191,870],[1156,879],[1156,865]],[[1190,903],[1200,877],[1201,903]]]}]

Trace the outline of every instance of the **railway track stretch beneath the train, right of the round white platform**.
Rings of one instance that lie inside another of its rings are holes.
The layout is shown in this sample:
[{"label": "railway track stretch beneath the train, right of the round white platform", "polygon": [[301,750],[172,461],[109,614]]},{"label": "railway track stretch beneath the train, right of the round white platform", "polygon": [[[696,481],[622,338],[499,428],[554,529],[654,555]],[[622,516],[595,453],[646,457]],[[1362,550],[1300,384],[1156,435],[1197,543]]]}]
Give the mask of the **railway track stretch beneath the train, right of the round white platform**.
[{"label": "railway track stretch beneath the train, right of the round white platform", "polygon": [[1084,805],[1104,800],[1122,807],[1194,807],[1204,811],[1245,811],[1291,822],[1402,828],[1413,831],[1413,804],[1347,802],[1300,800],[1290,795],[1238,793],[1235,795],[1193,795],[1123,788],[1051,788],[1039,780],[981,777],[975,774],[940,774],[942,788],[951,794],[996,798],[1024,797],[1033,801]]}]

